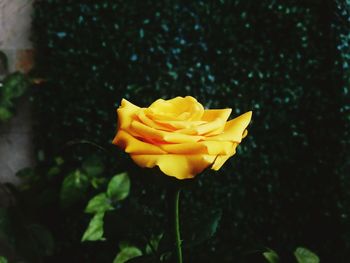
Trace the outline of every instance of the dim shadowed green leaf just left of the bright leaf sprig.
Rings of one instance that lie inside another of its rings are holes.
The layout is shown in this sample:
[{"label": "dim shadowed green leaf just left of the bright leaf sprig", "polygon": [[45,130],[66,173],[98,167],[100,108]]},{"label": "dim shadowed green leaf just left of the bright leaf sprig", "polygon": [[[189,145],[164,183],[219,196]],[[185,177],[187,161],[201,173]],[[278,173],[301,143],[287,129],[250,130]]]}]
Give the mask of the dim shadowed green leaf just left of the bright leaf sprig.
[{"label": "dim shadowed green leaf just left of the bright leaf sprig", "polygon": [[60,201],[68,207],[81,200],[89,187],[88,177],[79,170],[71,172],[62,183]]}]

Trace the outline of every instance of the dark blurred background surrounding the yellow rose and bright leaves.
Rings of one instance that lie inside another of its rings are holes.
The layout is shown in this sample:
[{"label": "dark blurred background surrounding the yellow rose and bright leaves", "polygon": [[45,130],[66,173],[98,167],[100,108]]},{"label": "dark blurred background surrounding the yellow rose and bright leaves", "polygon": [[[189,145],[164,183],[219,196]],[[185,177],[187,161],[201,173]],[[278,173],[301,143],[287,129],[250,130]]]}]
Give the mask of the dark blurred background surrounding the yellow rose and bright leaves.
[{"label": "dark blurred background surrounding the yellow rose and bright leaves", "polygon": [[[191,95],[253,120],[238,154],[183,192],[184,261],[267,262],[272,249],[296,262],[302,246],[349,262],[348,0],[2,0],[0,12],[0,256],[113,262],[121,242],[147,254],[169,224],[166,188],[111,145],[115,109]],[[131,192],[106,214],[106,240],[81,242],[87,202],[124,171]]]}]

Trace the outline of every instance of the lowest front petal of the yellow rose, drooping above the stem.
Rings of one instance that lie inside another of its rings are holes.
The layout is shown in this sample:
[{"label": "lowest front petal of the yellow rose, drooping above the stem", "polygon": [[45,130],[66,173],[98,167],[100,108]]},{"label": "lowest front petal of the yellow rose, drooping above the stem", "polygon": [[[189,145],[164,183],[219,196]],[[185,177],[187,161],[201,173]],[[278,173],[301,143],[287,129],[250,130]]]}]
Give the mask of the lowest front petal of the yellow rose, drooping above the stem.
[{"label": "lowest front petal of the yellow rose, drooping above the stem", "polygon": [[196,154],[196,155],[138,155],[132,154],[131,158],[141,167],[152,168],[159,166],[160,170],[169,176],[177,179],[193,178],[196,174],[202,172],[210,166],[215,160],[215,156]]}]

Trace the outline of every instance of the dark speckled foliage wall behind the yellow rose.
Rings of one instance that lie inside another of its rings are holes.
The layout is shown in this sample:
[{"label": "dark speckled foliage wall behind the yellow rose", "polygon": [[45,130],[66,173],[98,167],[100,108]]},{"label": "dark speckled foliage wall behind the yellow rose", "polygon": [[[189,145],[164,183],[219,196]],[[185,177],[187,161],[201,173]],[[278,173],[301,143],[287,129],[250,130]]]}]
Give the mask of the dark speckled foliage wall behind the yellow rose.
[{"label": "dark speckled foliage wall behind the yellow rose", "polygon": [[[34,94],[38,151],[50,156],[75,139],[108,146],[122,98],[147,106],[192,95],[236,115],[253,110],[239,154],[185,194],[184,211],[223,213],[218,233],[189,249],[187,262],[233,262],[262,246],[288,262],[298,245],[323,262],[346,262],[347,8],[316,0],[37,1],[37,73],[47,80]],[[126,156],[110,162],[143,178],[133,184],[135,195],[148,191],[145,204],[160,198]]]}]

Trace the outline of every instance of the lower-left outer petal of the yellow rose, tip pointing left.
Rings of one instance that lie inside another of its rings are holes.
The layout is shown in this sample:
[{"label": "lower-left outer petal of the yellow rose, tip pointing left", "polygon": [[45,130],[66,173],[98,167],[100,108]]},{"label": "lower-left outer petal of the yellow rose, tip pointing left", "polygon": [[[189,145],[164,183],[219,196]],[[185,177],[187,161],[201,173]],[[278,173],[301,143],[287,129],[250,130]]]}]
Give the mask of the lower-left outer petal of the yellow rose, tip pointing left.
[{"label": "lower-left outer petal of the yellow rose, tip pointing left", "polygon": [[165,151],[156,145],[140,141],[123,130],[119,130],[113,140],[113,144],[120,146],[127,153],[166,154]]}]

